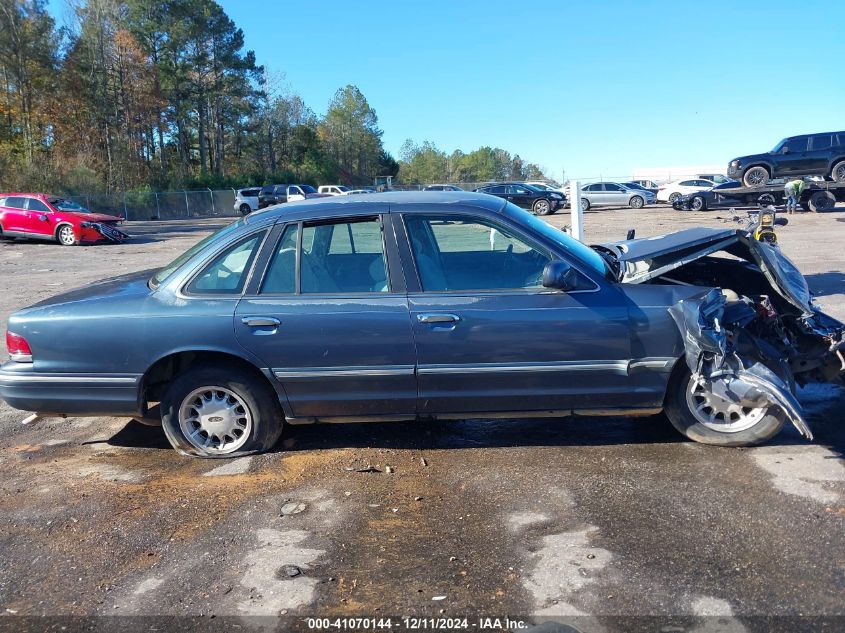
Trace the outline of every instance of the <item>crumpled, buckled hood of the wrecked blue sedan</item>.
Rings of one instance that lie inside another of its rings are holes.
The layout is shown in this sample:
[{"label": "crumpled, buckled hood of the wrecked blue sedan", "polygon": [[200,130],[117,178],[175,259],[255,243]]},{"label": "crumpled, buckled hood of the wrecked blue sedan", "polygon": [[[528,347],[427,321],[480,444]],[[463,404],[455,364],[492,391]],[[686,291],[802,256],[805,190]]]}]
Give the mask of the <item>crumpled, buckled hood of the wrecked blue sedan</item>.
[{"label": "crumpled, buckled hood of the wrecked blue sedan", "polygon": [[599,245],[619,262],[619,281],[643,283],[718,251],[757,264],[772,287],[804,316],[816,312],[807,280],[780,249],[742,229],[694,228]]}]

